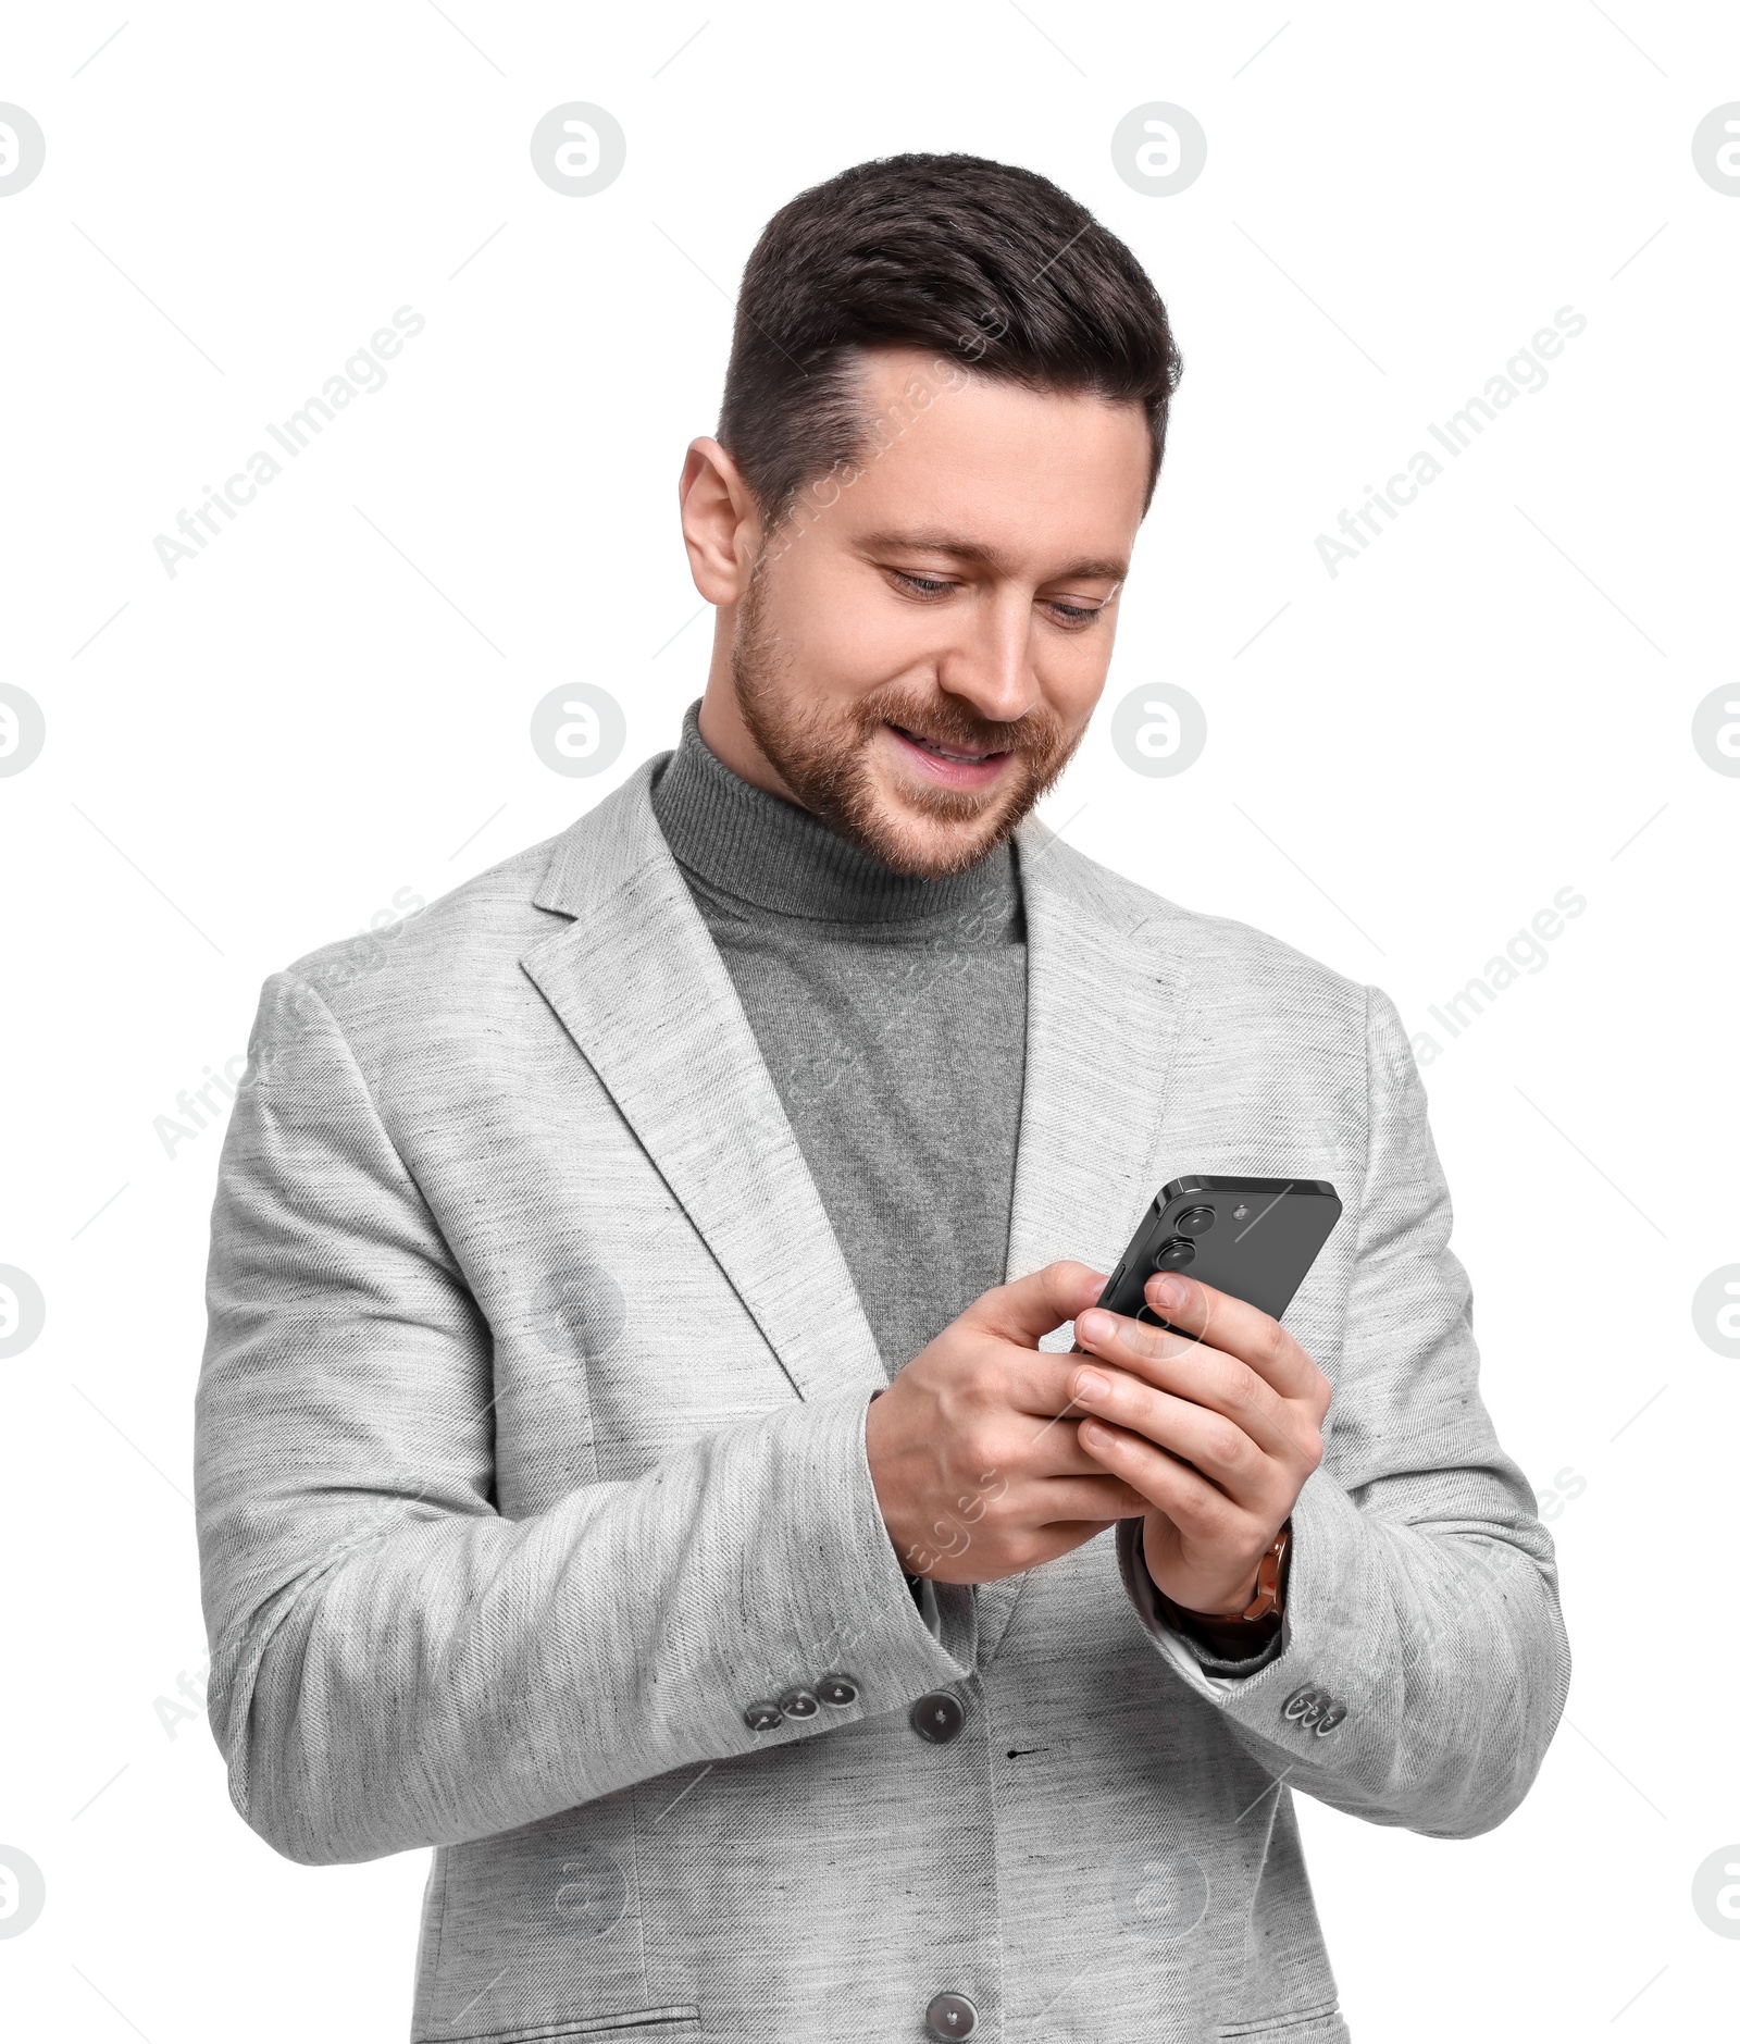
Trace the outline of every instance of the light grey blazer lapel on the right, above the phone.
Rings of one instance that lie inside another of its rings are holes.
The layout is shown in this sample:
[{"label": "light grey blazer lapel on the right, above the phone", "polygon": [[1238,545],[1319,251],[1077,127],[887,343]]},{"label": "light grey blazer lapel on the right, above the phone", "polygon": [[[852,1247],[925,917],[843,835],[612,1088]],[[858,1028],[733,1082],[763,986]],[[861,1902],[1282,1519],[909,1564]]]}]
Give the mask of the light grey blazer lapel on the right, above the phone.
[{"label": "light grey blazer lapel on the right, above the phone", "polygon": [[[1160,1188],[1160,1120],[1187,989],[1172,910],[1037,818],[1015,834],[1027,916],[1027,1075],[1007,1278],[1062,1257],[1109,1271]],[[1068,1327],[1040,1347],[1068,1349]],[[980,1584],[978,1658],[1027,1574]]]}]

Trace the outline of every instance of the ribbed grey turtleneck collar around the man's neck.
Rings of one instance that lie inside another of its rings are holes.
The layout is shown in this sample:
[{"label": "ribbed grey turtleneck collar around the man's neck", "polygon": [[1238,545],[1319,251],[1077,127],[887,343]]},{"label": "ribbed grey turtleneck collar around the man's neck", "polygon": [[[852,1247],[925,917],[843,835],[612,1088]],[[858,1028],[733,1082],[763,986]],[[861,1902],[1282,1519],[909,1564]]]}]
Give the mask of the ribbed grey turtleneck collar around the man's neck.
[{"label": "ribbed grey turtleneck collar around the man's neck", "polygon": [[897,873],[819,816],[733,773],[700,736],[698,699],[654,779],[651,805],[680,867],[776,916],[909,924],[966,914],[980,928],[1005,928],[1019,914],[1009,842],[939,881]]}]

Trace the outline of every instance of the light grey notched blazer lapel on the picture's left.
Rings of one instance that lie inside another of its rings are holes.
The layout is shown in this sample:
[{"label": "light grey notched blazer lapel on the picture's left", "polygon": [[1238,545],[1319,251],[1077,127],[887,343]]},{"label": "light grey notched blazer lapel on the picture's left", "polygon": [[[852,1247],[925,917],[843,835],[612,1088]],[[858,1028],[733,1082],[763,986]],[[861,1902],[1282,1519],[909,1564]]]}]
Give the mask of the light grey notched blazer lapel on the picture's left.
[{"label": "light grey notched blazer lapel on the picture's left", "polygon": [[651,809],[645,760],[533,897],[572,922],[521,965],[598,1073],[803,1398],[886,1384],[852,1273],[731,975]]}]

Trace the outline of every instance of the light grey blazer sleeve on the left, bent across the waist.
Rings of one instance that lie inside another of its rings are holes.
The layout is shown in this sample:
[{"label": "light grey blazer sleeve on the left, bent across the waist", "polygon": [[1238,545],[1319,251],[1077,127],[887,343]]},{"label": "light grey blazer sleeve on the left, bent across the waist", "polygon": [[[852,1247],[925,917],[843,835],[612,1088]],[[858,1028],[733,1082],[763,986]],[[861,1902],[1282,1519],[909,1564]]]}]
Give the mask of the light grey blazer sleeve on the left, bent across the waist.
[{"label": "light grey blazer sleeve on the left, bent across the waist", "polygon": [[[268,981],[219,1169],[196,1396],[208,1709],[304,1864],[531,1823],[970,1672],[876,1508],[862,1394],[494,1506],[490,1329],[321,993]],[[756,1731],[745,1709],[858,1694]]]}]

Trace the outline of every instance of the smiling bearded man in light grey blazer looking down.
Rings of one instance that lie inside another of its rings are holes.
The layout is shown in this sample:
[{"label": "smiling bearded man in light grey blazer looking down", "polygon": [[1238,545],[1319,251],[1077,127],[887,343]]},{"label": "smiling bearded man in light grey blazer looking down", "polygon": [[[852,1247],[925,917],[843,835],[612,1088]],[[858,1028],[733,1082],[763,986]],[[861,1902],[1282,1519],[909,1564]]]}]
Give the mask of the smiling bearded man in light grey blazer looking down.
[{"label": "smiling bearded man in light grey blazer looking down", "polygon": [[[268,981],[210,1715],[290,1858],[437,1848],[419,2040],[1344,2038],[1293,1791],[1464,1838],[1534,1778],[1550,1543],[1395,1008],[1029,814],[1176,374],[1044,178],[792,200],[676,752]],[[1187,1171],[1340,1188],[1287,1329],[1091,1310]]]}]

